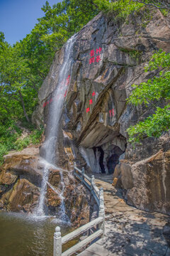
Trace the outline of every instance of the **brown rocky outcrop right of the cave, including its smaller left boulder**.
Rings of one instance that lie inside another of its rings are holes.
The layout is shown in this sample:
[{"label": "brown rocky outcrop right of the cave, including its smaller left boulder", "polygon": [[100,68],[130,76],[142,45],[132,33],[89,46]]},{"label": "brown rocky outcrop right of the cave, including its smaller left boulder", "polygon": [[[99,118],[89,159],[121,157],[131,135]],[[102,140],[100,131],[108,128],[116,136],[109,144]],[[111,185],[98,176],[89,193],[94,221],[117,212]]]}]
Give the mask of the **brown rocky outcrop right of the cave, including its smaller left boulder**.
[{"label": "brown rocky outcrop right of the cave, including its smaller left boulder", "polygon": [[[123,188],[125,198],[130,205],[135,205],[142,210],[157,210],[170,214],[170,161],[169,161],[169,134],[162,135],[155,139],[152,144],[148,144],[149,139],[145,139],[145,146],[150,147],[152,152],[157,152],[148,158],[141,160],[141,155],[137,154],[130,160],[120,160],[113,174],[113,180],[117,179],[115,188]],[[155,146],[154,148],[152,148]],[[128,149],[127,149],[128,151]],[[137,161],[140,159],[140,161]]]}]

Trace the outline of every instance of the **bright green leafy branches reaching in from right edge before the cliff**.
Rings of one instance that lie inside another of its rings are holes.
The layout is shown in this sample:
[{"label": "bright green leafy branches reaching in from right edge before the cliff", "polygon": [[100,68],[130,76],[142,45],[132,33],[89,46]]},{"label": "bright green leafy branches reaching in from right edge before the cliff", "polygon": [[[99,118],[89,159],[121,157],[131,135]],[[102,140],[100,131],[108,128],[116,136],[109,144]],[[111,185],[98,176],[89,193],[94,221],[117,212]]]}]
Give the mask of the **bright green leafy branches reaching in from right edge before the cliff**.
[{"label": "bright green leafy branches reaching in from right edge before the cliff", "polygon": [[[140,85],[133,85],[134,89],[128,102],[133,105],[145,104],[146,107],[155,107],[155,113],[147,117],[143,122],[128,128],[130,142],[140,142],[144,137],[159,137],[162,132],[170,129],[170,53],[159,50],[152,55],[149,65],[145,71],[160,70],[157,76],[142,82]],[[159,100],[165,102],[165,107],[157,107],[155,103]]]}]

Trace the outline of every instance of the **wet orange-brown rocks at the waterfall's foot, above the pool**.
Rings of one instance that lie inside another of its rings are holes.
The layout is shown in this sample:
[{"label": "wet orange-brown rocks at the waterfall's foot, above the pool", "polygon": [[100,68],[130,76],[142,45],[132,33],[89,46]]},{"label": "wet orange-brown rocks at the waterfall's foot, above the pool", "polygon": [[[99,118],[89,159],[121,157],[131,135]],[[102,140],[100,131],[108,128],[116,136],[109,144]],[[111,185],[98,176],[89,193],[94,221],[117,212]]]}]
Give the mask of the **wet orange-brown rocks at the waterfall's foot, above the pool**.
[{"label": "wet orange-brown rocks at the waterfall's foot, above the pool", "polygon": [[[7,155],[4,165],[0,168],[0,209],[35,214],[40,198],[43,169],[44,164],[40,156],[21,152]],[[54,168],[49,171],[46,213],[56,215],[60,212],[63,186],[65,210],[72,225],[79,226],[89,221],[89,191],[75,181],[68,171]]]}]

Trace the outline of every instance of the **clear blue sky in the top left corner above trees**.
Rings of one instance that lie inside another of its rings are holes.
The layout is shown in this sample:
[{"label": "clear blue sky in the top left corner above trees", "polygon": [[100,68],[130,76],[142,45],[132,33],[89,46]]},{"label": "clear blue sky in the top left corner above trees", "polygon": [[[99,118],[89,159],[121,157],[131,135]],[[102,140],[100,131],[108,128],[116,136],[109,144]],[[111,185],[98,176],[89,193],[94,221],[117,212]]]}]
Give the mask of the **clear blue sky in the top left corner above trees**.
[{"label": "clear blue sky in the top left corner above trees", "polygon": [[[46,0],[0,0],[0,31],[8,43],[22,40],[43,16],[41,7]],[[48,0],[50,6],[61,0]]]}]

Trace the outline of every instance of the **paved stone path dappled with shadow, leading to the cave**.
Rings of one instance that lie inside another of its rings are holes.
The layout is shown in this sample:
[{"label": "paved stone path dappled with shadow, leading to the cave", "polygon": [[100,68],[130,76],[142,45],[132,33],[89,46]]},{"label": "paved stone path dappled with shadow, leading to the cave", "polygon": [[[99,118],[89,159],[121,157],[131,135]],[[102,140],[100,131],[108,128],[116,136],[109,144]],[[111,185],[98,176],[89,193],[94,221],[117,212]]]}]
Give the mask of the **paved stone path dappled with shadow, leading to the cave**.
[{"label": "paved stone path dappled with shadow, leading to the cave", "polygon": [[112,176],[96,175],[96,185],[104,189],[106,234],[79,256],[170,256],[170,248],[162,235],[169,216],[128,206],[111,185],[112,181]]}]

